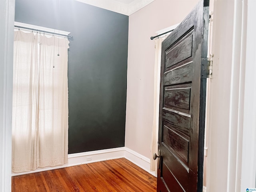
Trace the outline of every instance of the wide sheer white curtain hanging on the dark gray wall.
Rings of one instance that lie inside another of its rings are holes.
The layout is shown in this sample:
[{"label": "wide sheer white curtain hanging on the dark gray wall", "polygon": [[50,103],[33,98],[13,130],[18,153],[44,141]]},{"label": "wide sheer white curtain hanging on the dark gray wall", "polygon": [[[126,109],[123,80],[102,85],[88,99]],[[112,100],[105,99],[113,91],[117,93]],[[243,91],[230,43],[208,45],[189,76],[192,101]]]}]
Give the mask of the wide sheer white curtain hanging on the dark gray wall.
[{"label": "wide sheer white curtain hanging on the dark gray wall", "polygon": [[12,172],[67,163],[68,43],[14,32]]}]

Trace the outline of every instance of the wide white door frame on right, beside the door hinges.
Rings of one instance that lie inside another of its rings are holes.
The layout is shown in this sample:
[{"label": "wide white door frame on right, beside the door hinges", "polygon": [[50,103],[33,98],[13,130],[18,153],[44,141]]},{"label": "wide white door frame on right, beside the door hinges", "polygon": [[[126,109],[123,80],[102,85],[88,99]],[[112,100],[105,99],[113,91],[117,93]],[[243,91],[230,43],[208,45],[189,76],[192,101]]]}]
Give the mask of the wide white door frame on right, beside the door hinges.
[{"label": "wide white door frame on right, beside the door hinges", "polygon": [[255,0],[214,1],[208,192],[255,187]]}]

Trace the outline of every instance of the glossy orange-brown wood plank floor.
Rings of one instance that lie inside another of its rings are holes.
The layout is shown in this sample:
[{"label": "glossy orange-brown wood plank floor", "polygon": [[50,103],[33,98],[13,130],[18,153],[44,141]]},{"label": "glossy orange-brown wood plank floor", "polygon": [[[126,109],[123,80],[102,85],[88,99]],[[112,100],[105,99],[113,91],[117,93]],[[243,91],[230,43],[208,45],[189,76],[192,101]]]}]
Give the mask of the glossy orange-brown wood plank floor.
[{"label": "glossy orange-brown wood plank floor", "polygon": [[156,178],[120,158],[14,176],[12,192],[156,192]]}]

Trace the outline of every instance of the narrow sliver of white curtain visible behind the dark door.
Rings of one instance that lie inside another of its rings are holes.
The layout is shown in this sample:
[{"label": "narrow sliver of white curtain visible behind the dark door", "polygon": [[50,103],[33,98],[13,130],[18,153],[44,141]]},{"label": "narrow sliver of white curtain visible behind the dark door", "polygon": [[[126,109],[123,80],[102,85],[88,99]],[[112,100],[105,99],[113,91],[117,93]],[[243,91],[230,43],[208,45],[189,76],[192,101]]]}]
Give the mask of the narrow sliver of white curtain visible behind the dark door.
[{"label": "narrow sliver of white curtain visible behind the dark door", "polygon": [[150,157],[150,171],[155,171],[157,174],[158,160],[153,160],[153,154],[158,154],[158,126],[159,126],[159,94],[160,94],[160,70],[161,70],[161,50],[162,42],[165,39],[158,38],[155,40],[155,74],[154,74],[154,115],[151,139],[151,157]]}]

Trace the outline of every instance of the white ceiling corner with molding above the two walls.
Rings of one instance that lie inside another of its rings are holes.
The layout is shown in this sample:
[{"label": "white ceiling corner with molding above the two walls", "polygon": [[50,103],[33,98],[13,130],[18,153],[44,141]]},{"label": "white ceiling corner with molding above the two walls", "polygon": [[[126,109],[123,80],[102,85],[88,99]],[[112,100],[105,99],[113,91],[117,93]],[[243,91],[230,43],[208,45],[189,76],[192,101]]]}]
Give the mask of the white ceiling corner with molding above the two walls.
[{"label": "white ceiling corner with molding above the two walls", "polygon": [[77,0],[124,15],[131,15],[154,0]]}]

